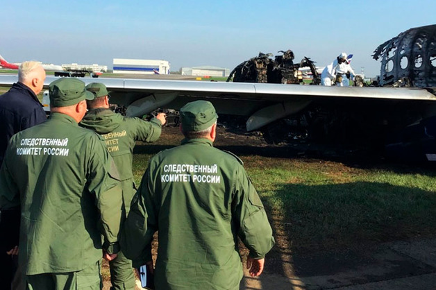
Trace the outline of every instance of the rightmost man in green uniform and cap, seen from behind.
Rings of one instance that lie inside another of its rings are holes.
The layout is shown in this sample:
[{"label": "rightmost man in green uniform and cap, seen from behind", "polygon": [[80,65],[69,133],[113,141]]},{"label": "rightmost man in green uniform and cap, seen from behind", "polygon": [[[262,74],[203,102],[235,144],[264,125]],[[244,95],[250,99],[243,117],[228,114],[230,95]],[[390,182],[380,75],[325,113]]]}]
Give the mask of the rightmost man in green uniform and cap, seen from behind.
[{"label": "rightmost man in green uniform and cap, seen from behind", "polygon": [[121,233],[134,266],[149,262],[159,231],[156,289],[239,289],[237,237],[249,248],[247,267],[262,273],[274,237],[242,161],[212,146],[212,103],[181,108],[181,146],[151,158]]}]

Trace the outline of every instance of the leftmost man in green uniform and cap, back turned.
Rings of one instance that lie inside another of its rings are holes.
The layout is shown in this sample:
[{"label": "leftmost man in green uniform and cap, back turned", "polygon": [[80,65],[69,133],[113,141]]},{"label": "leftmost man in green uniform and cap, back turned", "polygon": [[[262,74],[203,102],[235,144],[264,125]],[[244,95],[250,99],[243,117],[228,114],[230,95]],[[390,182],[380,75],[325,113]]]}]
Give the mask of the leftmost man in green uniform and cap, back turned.
[{"label": "leftmost man in green uniform and cap, back turned", "polygon": [[103,139],[78,126],[85,98],[94,97],[85,83],[60,78],[49,92],[49,120],[10,139],[0,208],[21,208],[19,263],[28,289],[100,289],[101,248],[107,259],[119,251],[117,169]]}]

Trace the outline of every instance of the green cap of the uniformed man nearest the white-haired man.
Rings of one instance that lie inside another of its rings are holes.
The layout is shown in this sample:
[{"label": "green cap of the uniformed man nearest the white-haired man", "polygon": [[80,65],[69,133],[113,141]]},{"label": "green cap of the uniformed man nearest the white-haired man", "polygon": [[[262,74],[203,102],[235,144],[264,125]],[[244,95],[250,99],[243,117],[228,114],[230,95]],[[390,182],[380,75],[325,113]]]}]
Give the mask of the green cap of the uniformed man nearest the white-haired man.
[{"label": "green cap of the uniformed man nearest the white-haired man", "polygon": [[49,85],[51,107],[66,107],[87,100],[93,100],[94,94],[87,92],[85,83],[77,78],[59,78]]}]

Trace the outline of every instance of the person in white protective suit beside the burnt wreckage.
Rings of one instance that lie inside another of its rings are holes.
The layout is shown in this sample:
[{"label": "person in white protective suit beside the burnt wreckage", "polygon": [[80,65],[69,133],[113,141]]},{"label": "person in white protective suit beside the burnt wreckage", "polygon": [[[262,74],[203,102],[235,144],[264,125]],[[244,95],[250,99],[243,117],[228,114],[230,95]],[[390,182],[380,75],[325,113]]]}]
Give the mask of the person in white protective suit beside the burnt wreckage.
[{"label": "person in white protective suit beside the burnt wreckage", "polygon": [[341,53],[330,65],[326,66],[321,73],[321,85],[332,85],[332,81],[338,87],[348,87],[350,84],[347,74],[354,76],[346,53]]}]

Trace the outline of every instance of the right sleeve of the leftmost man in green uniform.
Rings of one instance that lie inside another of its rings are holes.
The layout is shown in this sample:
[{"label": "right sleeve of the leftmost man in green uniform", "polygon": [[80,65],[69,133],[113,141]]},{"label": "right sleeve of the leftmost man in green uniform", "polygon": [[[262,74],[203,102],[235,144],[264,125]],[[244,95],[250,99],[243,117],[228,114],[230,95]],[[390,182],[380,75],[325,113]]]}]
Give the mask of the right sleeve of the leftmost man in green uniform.
[{"label": "right sleeve of the leftmost man in green uniform", "polygon": [[[96,135],[97,137],[97,135]],[[103,141],[94,142],[87,169],[87,188],[96,198],[100,212],[103,248],[108,253],[119,251],[118,234],[121,228],[122,189],[119,185],[118,171]]]}]

